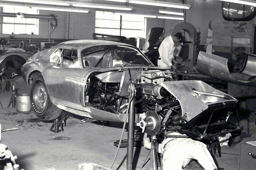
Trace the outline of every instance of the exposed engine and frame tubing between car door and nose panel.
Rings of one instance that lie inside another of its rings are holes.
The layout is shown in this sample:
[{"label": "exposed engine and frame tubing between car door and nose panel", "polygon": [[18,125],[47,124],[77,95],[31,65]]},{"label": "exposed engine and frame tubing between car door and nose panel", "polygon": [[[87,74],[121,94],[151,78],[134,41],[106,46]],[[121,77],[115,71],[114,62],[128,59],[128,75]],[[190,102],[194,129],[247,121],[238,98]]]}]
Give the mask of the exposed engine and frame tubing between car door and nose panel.
[{"label": "exposed engine and frame tubing between car door and nose panel", "polygon": [[[159,108],[159,105],[175,100],[161,85],[162,82],[175,80],[175,76],[170,71],[134,71],[133,74],[138,75],[138,79],[135,82],[137,113],[156,110],[156,107]],[[123,75],[122,77],[125,77]],[[114,74],[111,76],[115,77]],[[96,77],[98,79],[105,79],[105,74],[96,75]],[[119,82],[112,83],[102,82],[93,78],[90,79],[86,89],[87,96],[85,98],[89,99],[88,102],[95,103],[94,107],[96,108],[122,114],[123,108],[127,106],[128,86],[130,83],[128,77],[118,79],[117,81]]]}]

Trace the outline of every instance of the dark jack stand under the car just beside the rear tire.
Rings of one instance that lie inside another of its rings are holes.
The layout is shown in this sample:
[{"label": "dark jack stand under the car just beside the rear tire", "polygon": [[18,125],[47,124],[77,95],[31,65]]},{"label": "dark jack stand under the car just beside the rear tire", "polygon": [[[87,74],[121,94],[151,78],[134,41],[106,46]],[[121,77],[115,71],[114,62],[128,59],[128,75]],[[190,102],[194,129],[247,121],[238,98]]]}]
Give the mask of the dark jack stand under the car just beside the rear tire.
[{"label": "dark jack stand under the car just beside the rear tire", "polygon": [[[64,131],[63,125],[66,126],[66,121],[68,117],[69,115],[66,115],[66,111],[62,111],[61,115],[54,120],[52,127],[50,128],[50,131],[54,133],[63,132]],[[59,130],[59,127],[61,127],[61,130]]]}]

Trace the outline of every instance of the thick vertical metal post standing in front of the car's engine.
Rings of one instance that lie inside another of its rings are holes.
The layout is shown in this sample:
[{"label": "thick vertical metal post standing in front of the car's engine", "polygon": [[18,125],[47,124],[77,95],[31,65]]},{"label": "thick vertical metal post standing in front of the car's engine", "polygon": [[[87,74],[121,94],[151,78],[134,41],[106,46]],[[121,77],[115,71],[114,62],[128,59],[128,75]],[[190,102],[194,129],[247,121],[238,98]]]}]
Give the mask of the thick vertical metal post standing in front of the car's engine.
[{"label": "thick vertical metal post standing in front of the car's engine", "polygon": [[[131,93],[133,93],[134,84],[130,83]],[[134,147],[134,111],[135,111],[135,100],[132,96],[130,99],[130,110],[128,116],[128,144],[127,144],[127,164],[126,169],[132,170],[132,159],[133,159],[133,147]]]}]

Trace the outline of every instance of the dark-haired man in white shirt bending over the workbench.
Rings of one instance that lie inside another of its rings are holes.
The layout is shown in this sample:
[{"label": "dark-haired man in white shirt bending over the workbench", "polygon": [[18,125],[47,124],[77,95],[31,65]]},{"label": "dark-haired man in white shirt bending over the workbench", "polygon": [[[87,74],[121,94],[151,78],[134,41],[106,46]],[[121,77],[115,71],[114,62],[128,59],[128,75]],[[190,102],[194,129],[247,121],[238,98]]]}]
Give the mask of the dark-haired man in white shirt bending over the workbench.
[{"label": "dark-haired man in white shirt bending over the workbench", "polygon": [[177,69],[177,61],[173,56],[174,44],[183,40],[183,35],[181,33],[176,33],[175,35],[170,35],[166,37],[163,42],[161,42],[158,49],[159,58],[157,60],[157,65],[163,68]]}]

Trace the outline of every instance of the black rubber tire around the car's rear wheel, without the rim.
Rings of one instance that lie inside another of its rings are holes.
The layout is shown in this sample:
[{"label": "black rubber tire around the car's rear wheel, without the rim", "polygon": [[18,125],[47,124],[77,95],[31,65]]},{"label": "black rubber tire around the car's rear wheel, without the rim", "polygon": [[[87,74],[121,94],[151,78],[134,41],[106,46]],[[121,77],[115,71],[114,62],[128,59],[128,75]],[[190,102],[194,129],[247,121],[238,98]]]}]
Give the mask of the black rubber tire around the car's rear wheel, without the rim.
[{"label": "black rubber tire around the car's rear wheel, without the rim", "polygon": [[[46,88],[42,74],[39,74],[37,77],[34,78],[30,88],[30,104],[31,104],[32,110],[34,111],[38,119],[40,119],[41,121],[50,121],[50,120],[57,119],[58,116],[60,116],[60,114],[62,113],[62,110],[52,104],[52,101],[49,98],[48,92],[47,92],[48,102],[47,102],[46,109],[44,109],[43,113],[41,113],[40,115],[36,113],[36,110],[38,108],[33,103],[35,102],[34,100],[35,87],[38,85],[38,83],[41,83],[41,85],[44,85],[44,87]],[[47,91],[47,88],[46,88],[46,91]]]}]

